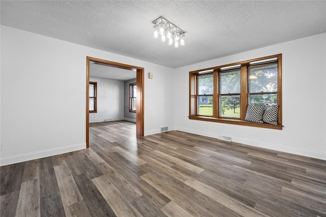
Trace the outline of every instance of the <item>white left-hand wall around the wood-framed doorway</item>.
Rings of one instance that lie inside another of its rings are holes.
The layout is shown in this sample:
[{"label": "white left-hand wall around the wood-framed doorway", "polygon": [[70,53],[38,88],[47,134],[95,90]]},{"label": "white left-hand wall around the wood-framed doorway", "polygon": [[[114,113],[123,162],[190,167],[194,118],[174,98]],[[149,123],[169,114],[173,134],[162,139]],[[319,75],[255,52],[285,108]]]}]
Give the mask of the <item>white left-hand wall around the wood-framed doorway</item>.
[{"label": "white left-hand wall around the wood-framed doorway", "polygon": [[145,135],[172,126],[174,69],[1,25],[1,165],[86,147],[86,56],[152,72]]}]

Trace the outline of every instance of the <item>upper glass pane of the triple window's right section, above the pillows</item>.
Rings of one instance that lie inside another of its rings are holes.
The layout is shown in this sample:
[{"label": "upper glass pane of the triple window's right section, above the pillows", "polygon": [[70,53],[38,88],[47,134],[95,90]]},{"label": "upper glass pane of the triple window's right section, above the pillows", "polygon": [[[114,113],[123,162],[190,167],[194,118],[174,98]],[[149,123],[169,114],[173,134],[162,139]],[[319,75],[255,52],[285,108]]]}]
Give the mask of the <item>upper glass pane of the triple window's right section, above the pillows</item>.
[{"label": "upper glass pane of the triple window's right section, above the pillows", "polygon": [[250,92],[277,91],[277,64],[250,68]]}]

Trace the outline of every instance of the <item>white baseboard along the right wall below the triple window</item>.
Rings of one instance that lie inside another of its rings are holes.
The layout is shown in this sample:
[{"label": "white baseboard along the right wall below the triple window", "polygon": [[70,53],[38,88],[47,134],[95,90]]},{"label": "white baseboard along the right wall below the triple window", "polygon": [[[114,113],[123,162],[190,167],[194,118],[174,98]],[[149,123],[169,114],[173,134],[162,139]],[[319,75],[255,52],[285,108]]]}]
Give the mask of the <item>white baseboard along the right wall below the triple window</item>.
[{"label": "white baseboard along the right wall below the triple window", "polygon": [[[192,130],[192,129],[187,129],[187,128],[177,128],[176,130],[186,132],[186,133],[193,133],[193,134],[198,134],[198,135],[202,135],[202,136],[207,136],[207,137],[211,137],[211,138],[215,138],[215,139],[218,139],[218,137],[219,137],[218,134],[212,134],[212,133],[207,133],[207,132],[202,132],[202,131],[197,131],[197,130]],[[256,141],[256,140],[237,138],[237,137],[233,137],[233,136],[232,136],[232,142],[237,142],[237,143],[241,143],[241,144],[245,144],[245,145],[251,145],[251,146],[260,147],[260,148],[267,148],[267,149],[271,149],[271,150],[297,154],[297,155],[301,155],[301,156],[305,156],[305,157],[309,157],[309,158],[326,160],[326,153],[319,153],[319,152],[314,152],[314,151],[310,151],[310,150],[286,147],[286,146],[282,146],[282,145],[271,144],[271,143],[266,143],[266,142]]]}]

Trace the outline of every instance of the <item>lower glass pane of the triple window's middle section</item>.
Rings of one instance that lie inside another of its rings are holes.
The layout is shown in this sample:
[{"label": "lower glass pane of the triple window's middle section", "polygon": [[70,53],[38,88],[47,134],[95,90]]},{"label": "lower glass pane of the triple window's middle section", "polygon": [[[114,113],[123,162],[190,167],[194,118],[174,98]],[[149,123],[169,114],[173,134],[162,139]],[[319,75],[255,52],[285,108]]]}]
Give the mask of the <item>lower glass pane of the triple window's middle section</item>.
[{"label": "lower glass pane of the triple window's middle section", "polygon": [[220,116],[240,118],[240,96],[220,97]]}]

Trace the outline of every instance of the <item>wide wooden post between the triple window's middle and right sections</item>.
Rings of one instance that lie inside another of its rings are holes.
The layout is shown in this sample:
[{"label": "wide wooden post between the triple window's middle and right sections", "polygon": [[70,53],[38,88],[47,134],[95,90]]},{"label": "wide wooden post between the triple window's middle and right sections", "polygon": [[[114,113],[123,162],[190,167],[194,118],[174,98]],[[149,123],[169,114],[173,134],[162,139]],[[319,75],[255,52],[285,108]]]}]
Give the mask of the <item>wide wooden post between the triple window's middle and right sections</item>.
[{"label": "wide wooden post between the triple window's middle and right sections", "polygon": [[242,66],[240,69],[241,76],[241,88],[240,88],[240,120],[244,120],[246,118],[247,111],[247,100],[248,100],[248,68],[247,66]]}]

